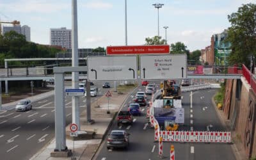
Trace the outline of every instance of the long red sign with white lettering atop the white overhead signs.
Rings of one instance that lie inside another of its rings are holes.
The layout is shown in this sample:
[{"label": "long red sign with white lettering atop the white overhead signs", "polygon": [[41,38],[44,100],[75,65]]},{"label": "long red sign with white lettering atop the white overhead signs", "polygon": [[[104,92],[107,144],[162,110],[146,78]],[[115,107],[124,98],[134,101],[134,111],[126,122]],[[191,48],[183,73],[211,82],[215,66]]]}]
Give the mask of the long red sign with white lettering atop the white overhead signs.
[{"label": "long red sign with white lettering atop the white overhead signs", "polygon": [[108,46],[108,55],[119,54],[170,54],[170,45]]}]

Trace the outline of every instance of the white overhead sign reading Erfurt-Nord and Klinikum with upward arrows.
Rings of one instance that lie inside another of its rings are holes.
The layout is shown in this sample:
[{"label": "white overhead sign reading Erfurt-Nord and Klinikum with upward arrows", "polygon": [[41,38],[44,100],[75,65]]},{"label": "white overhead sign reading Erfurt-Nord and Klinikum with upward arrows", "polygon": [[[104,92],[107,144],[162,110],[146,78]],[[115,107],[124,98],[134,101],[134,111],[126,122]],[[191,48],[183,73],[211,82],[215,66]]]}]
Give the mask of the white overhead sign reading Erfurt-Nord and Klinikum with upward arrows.
[{"label": "white overhead sign reading Erfurt-Nord and Klinikum with upward arrows", "polygon": [[141,79],[183,79],[187,77],[186,54],[140,56]]}]

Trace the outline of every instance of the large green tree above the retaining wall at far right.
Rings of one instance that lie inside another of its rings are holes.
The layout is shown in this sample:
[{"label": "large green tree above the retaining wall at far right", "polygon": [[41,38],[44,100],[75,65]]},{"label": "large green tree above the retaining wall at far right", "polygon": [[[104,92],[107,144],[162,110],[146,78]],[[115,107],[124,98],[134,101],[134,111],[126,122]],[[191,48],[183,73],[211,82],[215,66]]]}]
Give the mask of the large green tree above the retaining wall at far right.
[{"label": "large green tree above the retaining wall at far right", "polygon": [[243,4],[236,13],[228,15],[231,27],[227,41],[231,43],[228,63],[249,65],[248,56],[256,54],[256,4]]}]

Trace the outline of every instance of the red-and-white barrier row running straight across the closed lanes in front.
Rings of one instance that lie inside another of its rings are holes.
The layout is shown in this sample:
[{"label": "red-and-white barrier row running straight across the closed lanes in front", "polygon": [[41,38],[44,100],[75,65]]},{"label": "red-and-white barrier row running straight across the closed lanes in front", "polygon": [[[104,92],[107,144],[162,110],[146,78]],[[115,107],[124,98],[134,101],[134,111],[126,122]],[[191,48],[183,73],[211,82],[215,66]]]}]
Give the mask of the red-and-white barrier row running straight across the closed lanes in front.
[{"label": "red-and-white barrier row running straight across the closed lanes in front", "polygon": [[163,141],[230,143],[230,132],[159,131]]}]

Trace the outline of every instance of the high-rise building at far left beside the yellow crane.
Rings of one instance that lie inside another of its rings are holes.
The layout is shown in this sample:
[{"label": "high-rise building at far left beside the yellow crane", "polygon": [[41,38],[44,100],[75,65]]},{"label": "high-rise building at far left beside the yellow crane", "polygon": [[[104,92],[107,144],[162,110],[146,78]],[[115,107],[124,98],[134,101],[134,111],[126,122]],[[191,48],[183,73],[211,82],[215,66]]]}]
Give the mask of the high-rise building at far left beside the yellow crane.
[{"label": "high-rise building at far left beside the yellow crane", "polygon": [[4,33],[8,32],[8,31],[15,31],[19,34],[22,34],[24,36],[26,36],[26,40],[28,42],[30,42],[30,28],[27,25],[24,25],[22,27],[20,27],[20,25],[16,25],[16,26],[3,26],[3,35]]}]

